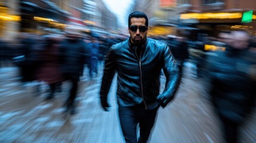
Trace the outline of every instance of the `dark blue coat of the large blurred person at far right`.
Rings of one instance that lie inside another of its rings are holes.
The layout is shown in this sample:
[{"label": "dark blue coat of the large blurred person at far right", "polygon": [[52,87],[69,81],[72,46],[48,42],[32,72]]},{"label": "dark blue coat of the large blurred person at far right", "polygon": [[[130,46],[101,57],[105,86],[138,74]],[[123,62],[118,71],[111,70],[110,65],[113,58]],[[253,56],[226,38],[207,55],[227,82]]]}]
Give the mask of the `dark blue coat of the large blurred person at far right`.
[{"label": "dark blue coat of the large blurred person at far right", "polygon": [[209,93],[220,116],[240,123],[255,102],[256,80],[249,69],[256,62],[248,60],[247,50],[227,48],[217,55],[209,57]]}]

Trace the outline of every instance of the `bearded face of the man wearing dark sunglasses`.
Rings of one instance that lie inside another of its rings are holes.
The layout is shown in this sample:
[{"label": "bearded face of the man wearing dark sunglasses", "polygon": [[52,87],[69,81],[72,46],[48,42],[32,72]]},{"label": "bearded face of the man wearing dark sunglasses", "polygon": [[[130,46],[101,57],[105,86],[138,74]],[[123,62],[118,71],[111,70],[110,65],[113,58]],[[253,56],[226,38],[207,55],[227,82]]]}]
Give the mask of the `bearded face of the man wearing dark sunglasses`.
[{"label": "bearded face of the man wearing dark sunglasses", "polygon": [[[147,36],[147,27],[145,25],[145,18],[131,18],[131,26],[128,28],[129,34],[131,36],[131,42],[135,44],[140,44],[144,42]],[[137,27],[137,30],[135,30]],[[146,27],[146,30],[145,30]],[[134,31],[135,30],[135,31]]]}]

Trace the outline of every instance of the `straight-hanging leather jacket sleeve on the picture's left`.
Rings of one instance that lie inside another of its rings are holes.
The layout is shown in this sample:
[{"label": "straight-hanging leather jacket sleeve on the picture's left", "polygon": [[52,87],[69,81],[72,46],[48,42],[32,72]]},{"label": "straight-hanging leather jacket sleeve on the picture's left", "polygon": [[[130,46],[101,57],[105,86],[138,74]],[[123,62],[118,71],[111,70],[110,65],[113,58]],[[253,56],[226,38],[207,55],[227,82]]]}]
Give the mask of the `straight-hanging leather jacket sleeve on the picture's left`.
[{"label": "straight-hanging leather jacket sleeve on the picture's left", "polygon": [[113,76],[116,72],[116,63],[115,63],[115,52],[112,48],[110,48],[109,53],[105,58],[105,67],[103,72],[103,77],[101,81],[100,88],[100,99],[107,101],[107,94],[109,93],[109,89],[113,80]]}]

